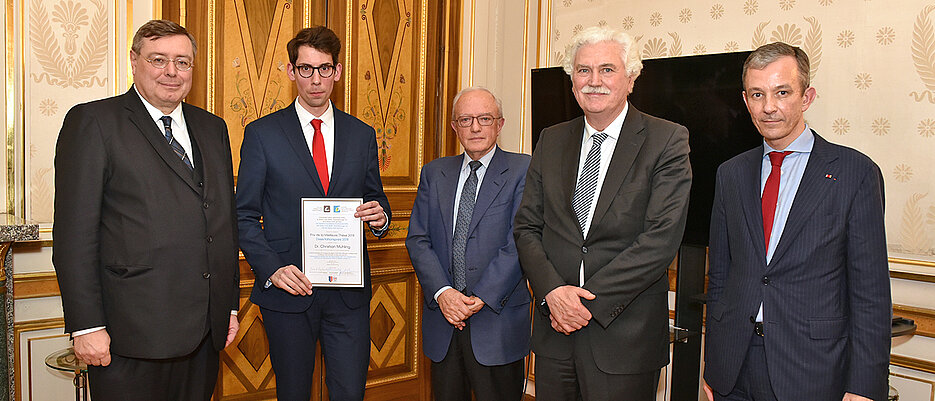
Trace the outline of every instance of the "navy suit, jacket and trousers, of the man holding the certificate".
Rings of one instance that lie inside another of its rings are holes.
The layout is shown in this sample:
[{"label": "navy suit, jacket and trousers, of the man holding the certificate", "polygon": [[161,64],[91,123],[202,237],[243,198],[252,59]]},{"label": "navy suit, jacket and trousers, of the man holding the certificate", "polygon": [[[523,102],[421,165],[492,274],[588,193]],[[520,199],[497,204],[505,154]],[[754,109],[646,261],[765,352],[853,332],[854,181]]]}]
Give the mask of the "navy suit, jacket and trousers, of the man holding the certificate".
[{"label": "navy suit, jacket and trousers, of the man holding the certificate", "polygon": [[[370,261],[366,246],[363,288],[315,288],[311,296],[296,296],[265,285],[280,267],[292,264],[301,268],[300,200],[326,196],[295,106],[293,103],[260,118],[244,131],[237,217],[240,247],[256,275],[250,300],[263,311],[280,400],[308,399],[305,394],[311,385],[318,339],[332,399],[357,399],[363,397],[370,350]],[[373,128],[333,109],[334,160],[329,161],[332,173],[327,197],[363,198],[365,203],[376,200],[389,218]],[[307,318],[293,316],[297,314]],[[348,317],[353,317],[352,321]],[[332,325],[343,327],[344,337],[331,336],[328,327]]]}]

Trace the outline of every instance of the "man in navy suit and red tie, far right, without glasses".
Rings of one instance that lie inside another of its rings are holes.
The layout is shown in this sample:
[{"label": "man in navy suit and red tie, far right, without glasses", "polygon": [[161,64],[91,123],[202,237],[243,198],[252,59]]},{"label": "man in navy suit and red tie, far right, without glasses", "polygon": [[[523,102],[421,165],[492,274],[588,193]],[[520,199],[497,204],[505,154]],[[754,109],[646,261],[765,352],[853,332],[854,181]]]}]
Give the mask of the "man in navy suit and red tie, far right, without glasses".
[{"label": "man in navy suit and red tie, far right, without glasses", "polygon": [[[712,400],[886,400],[883,177],[803,113],[808,56],[777,42],[743,69],[763,146],[718,168],[705,337]],[[714,391],[711,391],[713,389]]]}]

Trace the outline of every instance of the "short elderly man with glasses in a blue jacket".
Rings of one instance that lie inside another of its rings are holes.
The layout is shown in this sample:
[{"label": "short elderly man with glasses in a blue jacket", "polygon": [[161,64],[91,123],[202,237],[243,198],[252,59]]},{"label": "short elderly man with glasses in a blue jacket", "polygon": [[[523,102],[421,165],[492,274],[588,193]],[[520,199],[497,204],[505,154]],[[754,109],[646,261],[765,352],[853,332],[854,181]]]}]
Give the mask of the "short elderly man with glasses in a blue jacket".
[{"label": "short elderly man with glasses in a blue jacket", "polygon": [[[422,168],[406,248],[425,294],[422,340],[437,400],[523,397],[529,289],[513,241],[529,156],[497,146],[500,100],[455,96],[451,128],[464,155]],[[457,330],[455,330],[457,329]]]}]

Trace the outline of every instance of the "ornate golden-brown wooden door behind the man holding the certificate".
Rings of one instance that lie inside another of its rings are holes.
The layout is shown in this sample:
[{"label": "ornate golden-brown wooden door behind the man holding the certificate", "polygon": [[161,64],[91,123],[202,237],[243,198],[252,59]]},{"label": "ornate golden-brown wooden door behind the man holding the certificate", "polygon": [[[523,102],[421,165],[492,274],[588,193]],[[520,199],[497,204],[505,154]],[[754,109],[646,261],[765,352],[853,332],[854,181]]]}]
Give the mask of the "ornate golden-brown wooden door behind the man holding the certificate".
[{"label": "ornate golden-brown wooden door behind the man holding the certificate", "polygon": [[[184,8],[183,8],[184,5]],[[163,17],[182,21],[199,45],[187,101],[227,122],[234,165],[243,128],[288,106],[285,45],[299,29],[326,25],[342,40],[344,75],[335,106],[376,130],[380,172],[393,210],[383,239],[368,238],[373,299],[366,399],[430,399],[420,338],[421,288],[405,249],[422,166],[448,152],[444,142],[457,90],[459,1],[169,0]],[[235,172],[236,174],[236,172]],[[369,236],[369,234],[368,234]],[[275,375],[258,307],[249,302],[252,272],[241,263],[241,330],[222,352],[216,400],[275,399]],[[327,399],[321,356],[313,400]]]}]

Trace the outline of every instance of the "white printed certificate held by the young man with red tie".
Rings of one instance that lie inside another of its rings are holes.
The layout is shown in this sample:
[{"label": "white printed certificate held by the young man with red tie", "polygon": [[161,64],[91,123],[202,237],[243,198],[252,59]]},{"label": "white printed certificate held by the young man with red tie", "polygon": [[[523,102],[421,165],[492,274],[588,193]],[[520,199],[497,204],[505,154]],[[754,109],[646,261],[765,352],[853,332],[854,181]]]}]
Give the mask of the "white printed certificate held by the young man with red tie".
[{"label": "white printed certificate held by the young man with red tie", "polygon": [[360,198],[302,198],[302,271],[315,287],[364,286]]}]

